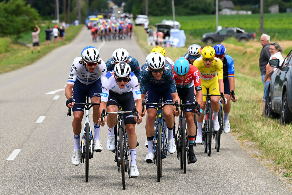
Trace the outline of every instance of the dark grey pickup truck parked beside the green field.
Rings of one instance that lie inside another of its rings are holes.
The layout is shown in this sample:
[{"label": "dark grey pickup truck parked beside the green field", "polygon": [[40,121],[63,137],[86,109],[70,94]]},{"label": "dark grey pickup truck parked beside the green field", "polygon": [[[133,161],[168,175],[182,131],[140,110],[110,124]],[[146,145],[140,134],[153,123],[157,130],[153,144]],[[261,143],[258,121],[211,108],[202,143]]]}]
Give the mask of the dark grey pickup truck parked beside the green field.
[{"label": "dark grey pickup truck parked beside the green field", "polygon": [[202,41],[206,43],[221,42],[227,37],[235,37],[239,41],[245,42],[249,39],[255,38],[255,33],[247,33],[242,28],[222,28],[214,33],[203,34]]}]

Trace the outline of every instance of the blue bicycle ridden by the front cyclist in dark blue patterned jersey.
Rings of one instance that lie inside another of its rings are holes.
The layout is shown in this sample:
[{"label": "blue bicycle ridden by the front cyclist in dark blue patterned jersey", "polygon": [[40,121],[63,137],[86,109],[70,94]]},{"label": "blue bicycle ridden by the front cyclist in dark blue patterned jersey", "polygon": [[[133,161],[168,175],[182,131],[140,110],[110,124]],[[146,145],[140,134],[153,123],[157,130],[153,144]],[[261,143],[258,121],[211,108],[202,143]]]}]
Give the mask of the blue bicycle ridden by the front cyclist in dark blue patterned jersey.
[{"label": "blue bicycle ridden by the front cyclist in dark blue patterned jersey", "polygon": [[176,101],[176,103],[163,103],[162,97],[160,97],[159,103],[146,103],[145,100],[142,100],[142,112],[144,112],[144,106],[147,104],[154,105],[157,108],[156,128],[153,138],[153,163],[157,165],[157,182],[160,182],[160,178],[162,177],[162,159],[166,158],[167,154],[167,135],[165,134],[164,121],[162,119],[162,108],[165,105],[175,105],[176,110],[179,112],[179,102]]}]

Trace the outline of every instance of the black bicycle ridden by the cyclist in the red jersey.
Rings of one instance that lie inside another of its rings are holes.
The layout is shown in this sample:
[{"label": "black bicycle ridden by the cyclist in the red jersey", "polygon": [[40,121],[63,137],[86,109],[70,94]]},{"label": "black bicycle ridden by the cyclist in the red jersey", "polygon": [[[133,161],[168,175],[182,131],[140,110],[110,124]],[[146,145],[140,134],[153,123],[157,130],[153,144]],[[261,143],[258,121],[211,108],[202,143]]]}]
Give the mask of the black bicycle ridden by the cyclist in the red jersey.
[{"label": "black bicycle ridden by the cyclist in the red jersey", "polygon": [[176,152],[179,159],[180,169],[183,169],[183,173],[186,173],[186,163],[189,164],[189,135],[186,130],[186,116],[185,107],[196,106],[196,113],[200,113],[200,105],[197,101],[193,104],[180,104],[181,114],[179,115],[179,128],[176,132]]}]

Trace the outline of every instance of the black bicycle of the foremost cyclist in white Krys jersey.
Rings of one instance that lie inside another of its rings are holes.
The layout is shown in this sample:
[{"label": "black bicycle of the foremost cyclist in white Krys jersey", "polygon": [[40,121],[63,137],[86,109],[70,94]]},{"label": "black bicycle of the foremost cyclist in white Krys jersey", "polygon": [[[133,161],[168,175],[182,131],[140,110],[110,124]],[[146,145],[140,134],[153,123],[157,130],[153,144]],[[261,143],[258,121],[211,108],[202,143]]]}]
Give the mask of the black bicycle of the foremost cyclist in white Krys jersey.
[{"label": "black bicycle of the foremost cyclist in white Krys jersey", "polygon": [[101,122],[103,122],[103,118],[108,114],[117,114],[118,115],[118,128],[117,128],[117,144],[116,144],[116,151],[115,151],[115,162],[118,167],[118,171],[122,174],[122,184],[123,189],[126,189],[126,172],[130,176],[130,165],[129,165],[129,155],[130,149],[128,145],[128,136],[125,128],[125,123],[123,119],[123,114],[134,112],[136,115],[138,122],[139,122],[139,115],[136,108],[133,108],[133,111],[121,111],[121,107],[119,107],[119,111],[117,112],[106,112],[106,109],[103,109],[101,113]]}]

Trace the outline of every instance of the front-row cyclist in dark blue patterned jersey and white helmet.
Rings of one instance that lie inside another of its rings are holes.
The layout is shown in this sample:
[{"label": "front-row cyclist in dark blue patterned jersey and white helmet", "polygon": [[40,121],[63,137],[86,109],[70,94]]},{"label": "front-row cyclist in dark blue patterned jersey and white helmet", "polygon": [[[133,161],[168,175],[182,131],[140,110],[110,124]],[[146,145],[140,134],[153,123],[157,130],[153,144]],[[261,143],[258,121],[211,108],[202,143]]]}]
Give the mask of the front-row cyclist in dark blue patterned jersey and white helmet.
[{"label": "front-row cyclist in dark blue patterned jersey and white helmet", "polygon": [[[161,53],[153,52],[146,57],[146,63],[141,68],[141,98],[146,102],[154,103],[159,101],[160,94],[163,94],[164,103],[173,103],[179,101],[176,91],[176,83],[173,78],[172,67],[165,61]],[[147,92],[147,93],[146,93]],[[154,138],[154,122],[156,119],[157,109],[154,105],[146,105],[147,120],[146,120],[146,136],[148,142],[148,154],[145,161],[151,163],[153,161],[153,138]],[[176,151],[175,140],[173,139],[174,127],[174,106],[166,105],[163,113],[166,119],[166,126],[168,129],[168,152],[174,153]],[[145,111],[144,111],[145,113]],[[144,113],[141,116],[144,116]],[[178,116],[178,112],[175,111]]]}]

